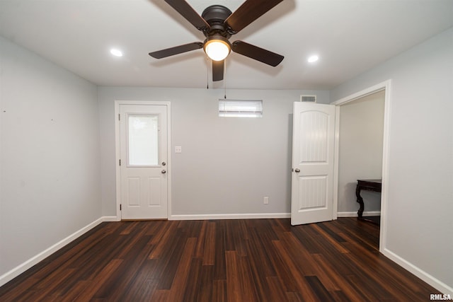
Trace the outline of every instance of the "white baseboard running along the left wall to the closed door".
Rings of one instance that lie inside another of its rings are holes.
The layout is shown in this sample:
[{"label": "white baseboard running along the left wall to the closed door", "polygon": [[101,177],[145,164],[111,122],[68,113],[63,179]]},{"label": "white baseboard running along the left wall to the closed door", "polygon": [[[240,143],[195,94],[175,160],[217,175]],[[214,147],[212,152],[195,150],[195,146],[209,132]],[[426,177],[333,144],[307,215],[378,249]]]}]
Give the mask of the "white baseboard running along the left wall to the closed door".
[{"label": "white baseboard running along the left wall to the closed door", "polygon": [[55,243],[55,245],[52,245],[50,248],[47,248],[46,250],[43,250],[42,252],[40,252],[38,255],[31,257],[29,260],[23,262],[21,265],[18,265],[17,267],[14,267],[13,269],[11,269],[9,272],[2,274],[0,276],[0,286],[6,284],[7,282],[11,281],[12,279],[18,277],[18,275],[22,274],[23,272],[25,272],[27,269],[30,269],[34,265],[37,265],[38,262],[45,260],[46,257],[49,257],[54,252],[57,252],[57,250],[59,250],[60,248],[63,248],[64,245],[67,245],[68,243],[71,243],[71,241],[75,240],[76,238],[79,238],[80,236],[84,235],[84,233],[86,233],[86,232],[90,231],[92,228],[98,226],[98,224],[102,223],[103,221],[117,221],[117,217],[116,216],[103,216],[99,219],[96,219],[96,221],[89,223],[87,226],[84,226],[79,231],[72,233],[71,235],[67,236],[67,238],[64,238],[64,239],[60,240],[59,242]]}]

